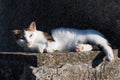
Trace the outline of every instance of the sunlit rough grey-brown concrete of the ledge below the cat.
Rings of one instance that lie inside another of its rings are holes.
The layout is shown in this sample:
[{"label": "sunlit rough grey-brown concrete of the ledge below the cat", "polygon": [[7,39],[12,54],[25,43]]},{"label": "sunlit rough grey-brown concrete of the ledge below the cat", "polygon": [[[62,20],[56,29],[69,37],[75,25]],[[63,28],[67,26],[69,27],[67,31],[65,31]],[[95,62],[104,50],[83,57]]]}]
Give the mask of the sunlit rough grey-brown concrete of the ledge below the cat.
[{"label": "sunlit rough grey-brown concrete of the ledge below the cat", "polygon": [[118,51],[114,53],[113,62],[100,51],[38,54],[38,67],[29,66],[20,80],[30,75],[29,80],[120,80],[120,59]]}]

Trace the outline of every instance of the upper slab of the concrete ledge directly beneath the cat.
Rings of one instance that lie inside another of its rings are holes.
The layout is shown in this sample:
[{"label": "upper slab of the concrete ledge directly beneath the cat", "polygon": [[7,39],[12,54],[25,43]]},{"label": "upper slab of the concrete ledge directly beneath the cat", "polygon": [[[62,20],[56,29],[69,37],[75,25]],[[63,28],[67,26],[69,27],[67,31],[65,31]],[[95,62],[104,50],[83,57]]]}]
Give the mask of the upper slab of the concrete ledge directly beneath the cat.
[{"label": "upper slab of the concrete ledge directly beneath the cat", "polygon": [[[120,57],[118,49],[114,49],[115,60]],[[104,61],[102,51],[90,52],[55,52],[55,53],[28,53],[28,52],[0,52],[0,62],[19,62],[31,66],[58,65],[63,63],[79,63],[89,61]]]}]

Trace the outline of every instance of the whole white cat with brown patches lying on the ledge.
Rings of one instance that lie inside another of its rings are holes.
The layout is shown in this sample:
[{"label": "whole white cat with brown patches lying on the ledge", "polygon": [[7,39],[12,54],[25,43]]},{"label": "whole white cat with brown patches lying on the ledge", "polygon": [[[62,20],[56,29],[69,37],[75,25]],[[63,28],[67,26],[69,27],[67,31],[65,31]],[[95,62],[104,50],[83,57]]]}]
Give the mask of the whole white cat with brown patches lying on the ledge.
[{"label": "whole white cat with brown patches lying on the ledge", "polygon": [[[55,52],[72,50],[81,52],[91,51],[93,49],[92,45],[97,45],[103,49],[107,60],[114,60],[113,50],[109,46],[107,39],[105,39],[102,33],[96,30],[57,28],[53,29],[51,31],[51,35],[49,35],[43,31],[37,30],[36,28],[36,23],[33,21],[27,29],[13,30],[13,33],[17,38],[17,43],[25,50],[41,53],[44,51]],[[19,35],[22,37],[17,37]]]}]

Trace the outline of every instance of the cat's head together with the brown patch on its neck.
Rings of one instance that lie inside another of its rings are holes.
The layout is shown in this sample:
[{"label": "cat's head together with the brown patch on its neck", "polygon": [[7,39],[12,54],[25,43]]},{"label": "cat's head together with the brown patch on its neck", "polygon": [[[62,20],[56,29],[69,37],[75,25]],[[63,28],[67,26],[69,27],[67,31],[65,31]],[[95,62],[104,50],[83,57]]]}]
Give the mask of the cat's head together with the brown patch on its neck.
[{"label": "cat's head together with the brown patch on its neck", "polygon": [[31,47],[38,38],[42,39],[42,36],[44,37],[44,39],[46,39],[46,41],[54,41],[53,37],[48,33],[37,30],[36,23],[34,21],[31,22],[26,29],[13,30],[12,32],[19,44],[24,42],[24,44],[26,44],[28,47]]}]

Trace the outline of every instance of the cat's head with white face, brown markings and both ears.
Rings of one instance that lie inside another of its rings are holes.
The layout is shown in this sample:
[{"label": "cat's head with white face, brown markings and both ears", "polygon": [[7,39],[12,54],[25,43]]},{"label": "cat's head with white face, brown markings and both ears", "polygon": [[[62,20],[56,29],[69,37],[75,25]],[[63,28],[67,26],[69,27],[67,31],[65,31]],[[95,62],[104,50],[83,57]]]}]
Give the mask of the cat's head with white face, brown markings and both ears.
[{"label": "cat's head with white face, brown markings and both ears", "polygon": [[37,37],[36,31],[37,31],[36,30],[36,23],[33,21],[30,23],[28,28],[22,29],[22,30],[15,29],[12,31],[12,33],[15,36],[17,43],[19,45],[24,43],[28,47],[30,47]]}]

